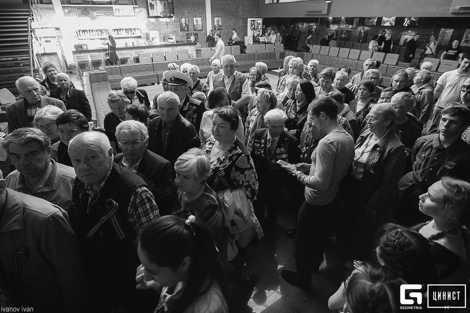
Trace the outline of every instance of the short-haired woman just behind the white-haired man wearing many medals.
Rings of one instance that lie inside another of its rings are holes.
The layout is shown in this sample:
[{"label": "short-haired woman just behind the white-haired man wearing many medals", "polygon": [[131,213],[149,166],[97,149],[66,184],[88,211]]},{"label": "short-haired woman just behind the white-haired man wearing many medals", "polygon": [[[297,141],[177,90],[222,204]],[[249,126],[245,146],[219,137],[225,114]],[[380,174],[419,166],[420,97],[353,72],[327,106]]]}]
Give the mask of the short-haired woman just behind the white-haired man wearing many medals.
[{"label": "short-haired woman just behind the white-haired man wearing many medals", "polygon": [[256,96],[256,107],[249,111],[248,117],[245,121],[245,134],[243,136],[243,144],[251,151],[251,144],[253,143],[253,136],[257,129],[265,128],[264,114],[267,111],[275,108],[277,105],[277,98],[271,90],[261,88],[258,90]]}]

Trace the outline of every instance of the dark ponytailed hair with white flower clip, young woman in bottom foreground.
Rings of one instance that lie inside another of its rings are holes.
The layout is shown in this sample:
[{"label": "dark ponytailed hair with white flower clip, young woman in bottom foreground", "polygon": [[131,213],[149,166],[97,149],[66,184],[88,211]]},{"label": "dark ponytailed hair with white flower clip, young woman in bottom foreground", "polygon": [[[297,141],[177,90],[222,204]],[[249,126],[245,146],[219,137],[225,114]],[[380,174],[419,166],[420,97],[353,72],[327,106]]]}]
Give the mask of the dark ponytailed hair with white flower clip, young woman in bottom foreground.
[{"label": "dark ponytailed hair with white flower clip, young woman in bottom foreground", "polygon": [[142,230],[138,245],[151,262],[162,267],[175,269],[184,257],[191,258],[183,292],[169,312],[184,311],[213,283],[219,285],[228,302],[228,283],[221,255],[207,226],[201,222],[196,220],[188,225],[180,217],[161,216]]}]

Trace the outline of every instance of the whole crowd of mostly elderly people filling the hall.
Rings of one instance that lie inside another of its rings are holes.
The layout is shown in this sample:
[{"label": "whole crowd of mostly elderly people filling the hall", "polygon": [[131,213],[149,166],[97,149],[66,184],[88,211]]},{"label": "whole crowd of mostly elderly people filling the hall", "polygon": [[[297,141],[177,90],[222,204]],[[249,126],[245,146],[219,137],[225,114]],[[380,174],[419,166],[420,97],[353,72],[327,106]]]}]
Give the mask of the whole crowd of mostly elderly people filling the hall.
[{"label": "whole crowd of mostly elderly people filling the hall", "polygon": [[214,54],[205,80],[169,63],[151,101],[124,77],[103,128],[83,91],[44,64],[44,88],[18,78],[22,98],[6,108],[0,303],[234,311],[227,274],[282,209],[298,211],[287,283],[308,289],[339,247],[350,275],[331,310],[397,312],[401,283],[466,283],[470,54],[461,59],[437,80],[398,70],[388,86],[373,59],[349,77],[286,56],[271,90],[263,62],[245,75]]}]

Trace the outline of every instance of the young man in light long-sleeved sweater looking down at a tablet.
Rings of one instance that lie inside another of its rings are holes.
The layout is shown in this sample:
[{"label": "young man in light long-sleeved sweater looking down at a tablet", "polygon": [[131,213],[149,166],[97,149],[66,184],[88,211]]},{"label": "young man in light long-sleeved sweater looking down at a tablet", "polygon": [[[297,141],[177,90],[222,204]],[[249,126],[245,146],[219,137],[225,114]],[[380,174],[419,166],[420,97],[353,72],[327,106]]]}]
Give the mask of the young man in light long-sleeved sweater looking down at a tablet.
[{"label": "young man in light long-sleeved sweater looking down at a tablet", "polygon": [[337,111],[336,101],[330,96],[316,99],[309,111],[310,132],[326,135],[313,151],[311,164],[281,165],[305,185],[305,201],[298,212],[295,233],[297,271],[282,271],[285,281],[301,288],[310,286],[312,265],[318,271],[328,229],[340,215],[334,197],[354,157],[354,142],[337,123]]}]

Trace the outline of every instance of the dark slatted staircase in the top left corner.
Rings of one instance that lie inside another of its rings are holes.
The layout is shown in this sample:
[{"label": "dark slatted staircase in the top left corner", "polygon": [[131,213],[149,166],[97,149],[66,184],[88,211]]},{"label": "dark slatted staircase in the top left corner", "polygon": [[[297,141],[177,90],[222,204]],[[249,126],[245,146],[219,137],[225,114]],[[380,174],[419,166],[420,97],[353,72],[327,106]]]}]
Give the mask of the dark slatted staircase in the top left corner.
[{"label": "dark slatted staircase in the top left corner", "polygon": [[30,73],[28,16],[27,6],[0,7],[0,89],[15,95],[16,79]]}]

